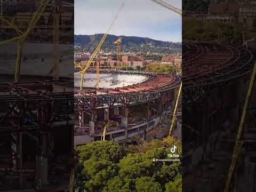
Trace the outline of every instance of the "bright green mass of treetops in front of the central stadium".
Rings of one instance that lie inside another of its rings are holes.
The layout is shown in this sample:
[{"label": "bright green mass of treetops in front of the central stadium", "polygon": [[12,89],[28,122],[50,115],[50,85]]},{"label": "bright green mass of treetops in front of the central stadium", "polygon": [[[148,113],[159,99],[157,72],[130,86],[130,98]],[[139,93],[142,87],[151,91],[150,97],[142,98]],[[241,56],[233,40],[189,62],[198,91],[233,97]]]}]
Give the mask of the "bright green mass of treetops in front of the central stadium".
[{"label": "bright green mass of treetops in front of the central stadium", "polygon": [[77,147],[77,190],[180,191],[181,163],[153,161],[168,158],[167,154],[173,145],[178,147],[181,156],[181,143],[173,138],[126,148],[113,141],[95,141]]}]

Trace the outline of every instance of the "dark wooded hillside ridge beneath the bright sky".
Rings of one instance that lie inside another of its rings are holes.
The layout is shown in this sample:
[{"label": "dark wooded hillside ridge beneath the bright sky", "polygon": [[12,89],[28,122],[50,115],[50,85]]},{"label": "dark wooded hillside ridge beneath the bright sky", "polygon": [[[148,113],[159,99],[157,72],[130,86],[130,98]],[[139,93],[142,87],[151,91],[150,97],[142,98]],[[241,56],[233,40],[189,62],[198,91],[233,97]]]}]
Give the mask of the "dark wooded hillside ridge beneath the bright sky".
[{"label": "dark wooded hillside ridge beneath the bright sky", "polygon": [[[94,46],[100,42],[103,34],[94,34],[94,35],[75,35],[75,45],[81,46]],[[159,47],[181,47],[181,43],[173,43],[173,42],[164,42],[157,41],[154,39],[150,39],[147,37],[135,37],[135,36],[121,36],[123,41],[123,46],[140,46],[141,44],[152,44],[153,46]],[[114,42],[119,38],[116,35],[108,35],[103,46],[113,45]]]}]

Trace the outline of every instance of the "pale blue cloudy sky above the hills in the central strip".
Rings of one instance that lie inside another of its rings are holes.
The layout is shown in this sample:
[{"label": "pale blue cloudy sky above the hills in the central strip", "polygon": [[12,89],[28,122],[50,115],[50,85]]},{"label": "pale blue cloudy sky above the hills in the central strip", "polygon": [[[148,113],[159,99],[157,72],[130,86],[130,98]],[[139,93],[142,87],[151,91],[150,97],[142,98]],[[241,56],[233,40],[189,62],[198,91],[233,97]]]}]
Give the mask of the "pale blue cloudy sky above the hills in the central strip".
[{"label": "pale blue cloudy sky above the hills in the central strip", "polygon": [[[75,34],[106,33],[124,2],[110,34],[181,42],[181,16],[150,0],[76,0]],[[181,0],[165,0],[181,9]]]}]

